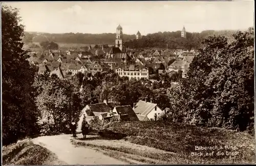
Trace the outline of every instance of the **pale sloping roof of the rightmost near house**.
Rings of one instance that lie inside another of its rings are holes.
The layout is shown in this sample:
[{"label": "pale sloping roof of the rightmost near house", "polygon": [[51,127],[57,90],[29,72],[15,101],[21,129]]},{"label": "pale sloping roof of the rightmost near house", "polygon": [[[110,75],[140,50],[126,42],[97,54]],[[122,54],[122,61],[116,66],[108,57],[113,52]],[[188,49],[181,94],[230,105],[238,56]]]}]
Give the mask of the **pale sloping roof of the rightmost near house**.
[{"label": "pale sloping roof of the rightmost near house", "polygon": [[157,104],[139,100],[139,102],[135,105],[134,112],[136,114],[147,116],[147,114],[150,113],[151,110],[153,108],[155,108],[156,106],[157,106]]}]

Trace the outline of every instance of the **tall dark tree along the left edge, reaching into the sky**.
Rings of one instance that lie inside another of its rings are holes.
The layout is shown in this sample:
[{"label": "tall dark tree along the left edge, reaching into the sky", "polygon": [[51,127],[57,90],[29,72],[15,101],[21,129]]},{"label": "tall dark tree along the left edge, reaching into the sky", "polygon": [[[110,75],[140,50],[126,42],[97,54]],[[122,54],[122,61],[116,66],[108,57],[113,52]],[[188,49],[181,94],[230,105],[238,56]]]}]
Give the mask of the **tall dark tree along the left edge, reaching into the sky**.
[{"label": "tall dark tree along the left edge, reaching into the sky", "polygon": [[36,108],[33,96],[35,68],[26,61],[22,49],[24,25],[18,10],[2,6],[2,125],[3,144],[16,142],[36,133]]}]

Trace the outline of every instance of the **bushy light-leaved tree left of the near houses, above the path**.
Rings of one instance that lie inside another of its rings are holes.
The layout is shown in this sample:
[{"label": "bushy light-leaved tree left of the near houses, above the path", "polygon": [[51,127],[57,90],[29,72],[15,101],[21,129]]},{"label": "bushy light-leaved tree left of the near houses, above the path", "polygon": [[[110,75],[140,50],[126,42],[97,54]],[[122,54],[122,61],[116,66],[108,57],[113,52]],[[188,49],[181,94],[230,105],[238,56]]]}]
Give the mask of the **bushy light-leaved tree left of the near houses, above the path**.
[{"label": "bushy light-leaved tree left of the near houses, above the path", "polygon": [[40,116],[40,132],[52,134],[68,132],[72,120],[77,122],[80,116],[81,99],[78,87],[57,75],[37,75],[33,85],[36,88],[36,106]]}]

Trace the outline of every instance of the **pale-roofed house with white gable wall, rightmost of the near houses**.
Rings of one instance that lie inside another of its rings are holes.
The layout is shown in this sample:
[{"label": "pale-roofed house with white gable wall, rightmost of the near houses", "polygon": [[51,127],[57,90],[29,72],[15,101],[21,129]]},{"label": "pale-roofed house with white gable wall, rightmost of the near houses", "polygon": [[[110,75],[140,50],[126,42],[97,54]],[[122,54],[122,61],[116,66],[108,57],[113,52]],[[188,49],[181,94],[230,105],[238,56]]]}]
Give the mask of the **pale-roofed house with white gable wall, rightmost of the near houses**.
[{"label": "pale-roofed house with white gable wall, rightmost of the near houses", "polygon": [[139,100],[139,102],[134,103],[133,110],[137,115],[146,116],[151,121],[158,119],[160,113],[162,113],[162,109],[157,104],[152,103],[152,100],[147,102],[146,99],[145,101]]}]

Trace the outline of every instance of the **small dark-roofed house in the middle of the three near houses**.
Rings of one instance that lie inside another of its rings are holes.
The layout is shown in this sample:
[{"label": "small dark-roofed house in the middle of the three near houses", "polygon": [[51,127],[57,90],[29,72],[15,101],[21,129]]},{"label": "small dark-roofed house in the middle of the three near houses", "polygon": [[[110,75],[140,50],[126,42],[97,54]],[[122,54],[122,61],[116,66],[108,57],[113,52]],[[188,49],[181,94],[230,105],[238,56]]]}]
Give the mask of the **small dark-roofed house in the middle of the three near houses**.
[{"label": "small dark-roofed house in the middle of the three near houses", "polygon": [[138,117],[131,105],[115,106],[113,114],[118,116],[120,121],[138,121]]}]

